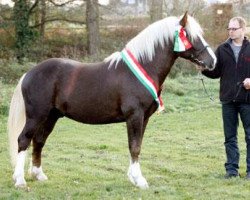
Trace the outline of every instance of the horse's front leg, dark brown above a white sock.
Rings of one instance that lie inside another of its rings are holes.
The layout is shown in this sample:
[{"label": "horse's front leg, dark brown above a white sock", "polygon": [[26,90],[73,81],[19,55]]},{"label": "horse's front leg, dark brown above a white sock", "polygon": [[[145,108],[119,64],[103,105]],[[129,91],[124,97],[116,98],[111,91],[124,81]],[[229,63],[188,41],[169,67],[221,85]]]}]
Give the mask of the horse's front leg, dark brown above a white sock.
[{"label": "horse's front leg, dark brown above a white sock", "polygon": [[128,144],[131,155],[128,177],[134,185],[141,189],[148,188],[147,180],[143,177],[139,164],[139,154],[147,122],[148,120],[144,120],[143,115],[133,116],[127,120]]}]

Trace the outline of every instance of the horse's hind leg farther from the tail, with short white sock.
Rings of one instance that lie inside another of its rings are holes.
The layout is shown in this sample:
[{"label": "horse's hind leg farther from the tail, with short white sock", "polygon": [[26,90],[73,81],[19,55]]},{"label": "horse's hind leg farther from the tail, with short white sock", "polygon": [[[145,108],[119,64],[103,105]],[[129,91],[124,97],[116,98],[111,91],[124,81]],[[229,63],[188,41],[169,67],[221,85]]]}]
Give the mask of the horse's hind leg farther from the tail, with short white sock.
[{"label": "horse's hind leg farther from the tail, with short white sock", "polygon": [[39,128],[39,131],[36,132],[32,140],[33,151],[32,151],[32,161],[29,168],[29,174],[39,181],[45,181],[48,179],[42,169],[41,154],[46,139],[52,132],[57,120],[58,116],[55,113],[51,112],[50,116]]}]

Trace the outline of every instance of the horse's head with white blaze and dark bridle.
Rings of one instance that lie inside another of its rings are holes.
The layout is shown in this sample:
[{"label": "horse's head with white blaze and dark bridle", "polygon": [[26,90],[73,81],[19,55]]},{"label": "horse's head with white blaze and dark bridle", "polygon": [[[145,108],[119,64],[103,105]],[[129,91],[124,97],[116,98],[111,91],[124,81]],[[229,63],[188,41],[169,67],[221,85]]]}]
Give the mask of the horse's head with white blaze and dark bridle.
[{"label": "horse's head with white blaze and dark bridle", "polygon": [[203,68],[214,69],[217,59],[213,50],[203,38],[199,24],[187,13],[184,14],[179,24],[184,30],[184,33],[181,33],[182,36],[184,35],[184,46],[186,42],[189,45],[187,50],[178,52],[178,55]]}]

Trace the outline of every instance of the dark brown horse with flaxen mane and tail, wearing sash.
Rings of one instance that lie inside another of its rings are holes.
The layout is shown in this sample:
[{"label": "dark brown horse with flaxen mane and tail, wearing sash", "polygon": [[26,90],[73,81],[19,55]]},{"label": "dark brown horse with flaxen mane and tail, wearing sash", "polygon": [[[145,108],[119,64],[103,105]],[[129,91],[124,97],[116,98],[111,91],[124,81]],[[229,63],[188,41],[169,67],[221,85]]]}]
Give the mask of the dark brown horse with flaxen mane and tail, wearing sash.
[{"label": "dark brown horse with flaxen mane and tail, wearing sash", "polygon": [[[178,51],[176,45],[188,48]],[[9,109],[15,187],[27,187],[24,165],[29,146],[33,147],[29,173],[38,181],[48,179],[42,169],[42,149],[57,120],[67,117],[85,124],[126,122],[127,175],[135,186],[148,188],[139,163],[141,144],[150,116],[162,107],[162,84],[178,57],[208,70],[216,64],[201,26],[187,12],[150,24],[124,50],[101,62],[50,58],[30,69],[19,80]]]}]

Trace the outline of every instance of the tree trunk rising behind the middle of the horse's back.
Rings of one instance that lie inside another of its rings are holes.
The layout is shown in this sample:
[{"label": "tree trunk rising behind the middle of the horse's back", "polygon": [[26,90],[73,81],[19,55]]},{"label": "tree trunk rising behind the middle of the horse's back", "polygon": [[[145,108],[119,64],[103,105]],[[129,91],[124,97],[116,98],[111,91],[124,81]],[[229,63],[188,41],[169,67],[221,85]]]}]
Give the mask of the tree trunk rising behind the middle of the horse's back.
[{"label": "tree trunk rising behind the middle of the horse's back", "polygon": [[91,56],[98,57],[100,52],[98,0],[87,0],[86,23],[87,23],[88,53]]}]

